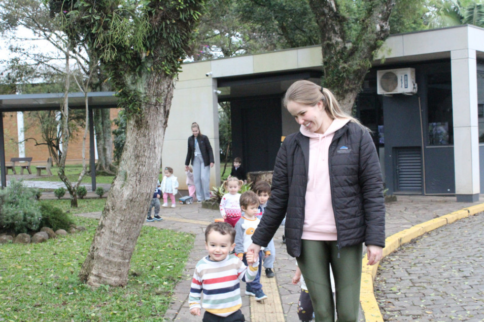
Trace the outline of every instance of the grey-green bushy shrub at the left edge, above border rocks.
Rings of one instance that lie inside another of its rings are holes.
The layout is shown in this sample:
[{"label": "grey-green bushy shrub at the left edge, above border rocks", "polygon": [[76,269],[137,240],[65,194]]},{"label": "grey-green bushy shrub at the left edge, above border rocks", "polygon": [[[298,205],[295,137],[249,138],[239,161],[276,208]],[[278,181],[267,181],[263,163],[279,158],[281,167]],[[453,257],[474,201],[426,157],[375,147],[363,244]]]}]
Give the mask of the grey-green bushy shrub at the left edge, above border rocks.
[{"label": "grey-green bushy shrub at the left edge, above border rocks", "polygon": [[36,202],[36,190],[16,180],[0,190],[0,230],[22,233],[39,228],[41,211]]}]

